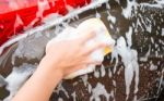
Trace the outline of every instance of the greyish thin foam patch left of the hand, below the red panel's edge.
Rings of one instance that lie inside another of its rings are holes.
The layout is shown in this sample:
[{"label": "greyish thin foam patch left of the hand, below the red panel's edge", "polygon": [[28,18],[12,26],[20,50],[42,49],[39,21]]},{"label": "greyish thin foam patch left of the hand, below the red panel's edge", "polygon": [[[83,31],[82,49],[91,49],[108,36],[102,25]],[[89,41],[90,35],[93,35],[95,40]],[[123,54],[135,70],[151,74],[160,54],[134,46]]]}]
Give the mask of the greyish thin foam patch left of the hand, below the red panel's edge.
[{"label": "greyish thin foam patch left of the hand, below the red panel's edge", "polygon": [[[15,58],[26,58],[40,60],[44,55],[44,48],[49,40],[48,37],[42,34],[36,34],[35,36],[27,37],[24,40],[17,42],[17,48],[12,54],[12,64],[15,62]],[[42,46],[40,46],[42,45]]]}]

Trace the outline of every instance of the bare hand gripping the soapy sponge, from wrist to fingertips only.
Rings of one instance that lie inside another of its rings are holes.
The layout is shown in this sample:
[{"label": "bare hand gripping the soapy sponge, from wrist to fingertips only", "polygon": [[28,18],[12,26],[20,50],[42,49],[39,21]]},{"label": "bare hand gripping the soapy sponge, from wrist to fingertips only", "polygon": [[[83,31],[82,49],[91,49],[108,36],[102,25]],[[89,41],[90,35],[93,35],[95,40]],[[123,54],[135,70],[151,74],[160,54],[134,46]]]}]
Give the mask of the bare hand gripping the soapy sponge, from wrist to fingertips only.
[{"label": "bare hand gripping the soapy sponge, from wrist to fingertips only", "polygon": [[52,41],[46,50],[46,63],[51,65],[54,71],[60,71],[63,77],[86,67],[89,64],[101,64],[91,60],[90,54],[107,45],[97,42],[91,48],[85,46],[95,36],[93,31],[87,31],[77,39]]}]

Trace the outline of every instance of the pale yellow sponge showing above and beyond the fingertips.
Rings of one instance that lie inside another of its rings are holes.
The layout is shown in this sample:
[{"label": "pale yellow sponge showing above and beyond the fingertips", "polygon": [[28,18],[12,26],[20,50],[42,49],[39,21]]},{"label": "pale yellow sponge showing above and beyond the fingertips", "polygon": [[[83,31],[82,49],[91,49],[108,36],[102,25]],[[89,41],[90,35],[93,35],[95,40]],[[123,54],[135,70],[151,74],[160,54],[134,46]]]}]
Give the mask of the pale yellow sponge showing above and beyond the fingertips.
[{"label": "pale yellow sponge showing above and beyond the fingertips", "polygon": [[106,55],[107,53],[112,52],[112,48],[115,45],[115,40],[112,39],[106,26],[104,23],[101,21],[101,18],[89,18],[81,23],[78,26],[78,31],[84,31],[87,29],[93,29],[96,35],[97,35],[97,40],[104,41],[110,46],[110,48],[105,48],[104,54]]}]

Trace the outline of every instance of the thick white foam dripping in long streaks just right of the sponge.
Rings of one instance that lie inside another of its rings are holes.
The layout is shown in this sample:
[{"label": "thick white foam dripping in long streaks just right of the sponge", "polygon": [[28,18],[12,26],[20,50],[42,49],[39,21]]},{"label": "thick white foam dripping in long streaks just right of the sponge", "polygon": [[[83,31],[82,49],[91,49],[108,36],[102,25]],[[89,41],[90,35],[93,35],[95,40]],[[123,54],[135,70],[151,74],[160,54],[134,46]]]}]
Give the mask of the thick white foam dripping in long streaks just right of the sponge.
[{"label": "thick white foam dripping in long streaks just right of the sponge", "polygon": [[[129,38],[127,38],[129,40]],[[130,91],[131,81],[134,77],[134,93],[138,92],[138,84],[139,84],[139,64],[138,64],[138,54],[137,51],[130,49],[129,46],[126,45],[126,40],[124,37],[117,39],[117,46],[114,50],[115,53],[112,53],[113,58],[118,58],[118,54],[121,56],[121,61],[125,65],[125,81],[126,81],[126,94],[128,100]]]}]

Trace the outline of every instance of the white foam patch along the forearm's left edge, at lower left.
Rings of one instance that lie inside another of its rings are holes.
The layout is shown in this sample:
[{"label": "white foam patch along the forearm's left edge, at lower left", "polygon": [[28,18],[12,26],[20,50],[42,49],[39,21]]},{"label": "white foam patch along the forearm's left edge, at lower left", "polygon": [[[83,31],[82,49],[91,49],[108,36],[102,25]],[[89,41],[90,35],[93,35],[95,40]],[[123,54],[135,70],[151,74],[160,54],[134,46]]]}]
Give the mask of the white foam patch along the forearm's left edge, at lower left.
[{"label": "white foam patch along the forearm's left edge, at lower left", "polygon": [[5,78],[8,83],[7,89],[10,91],[10,96],[3,101],[11,101],[13,96],[17,92],[20,87],[27,80],[27,78],[33,74],[36,66],[23,63],[20,67],[13,67],[12,72]]}]

